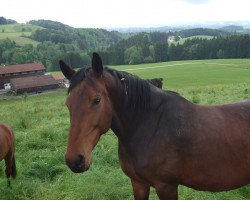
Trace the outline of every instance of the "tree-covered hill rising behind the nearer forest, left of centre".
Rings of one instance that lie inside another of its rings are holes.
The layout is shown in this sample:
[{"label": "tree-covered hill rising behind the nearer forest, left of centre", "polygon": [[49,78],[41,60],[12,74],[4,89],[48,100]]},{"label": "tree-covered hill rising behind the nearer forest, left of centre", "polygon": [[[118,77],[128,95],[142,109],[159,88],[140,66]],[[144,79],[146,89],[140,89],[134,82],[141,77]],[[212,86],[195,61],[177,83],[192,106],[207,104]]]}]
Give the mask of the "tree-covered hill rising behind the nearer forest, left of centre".
[{"label": "tree-covered hill rising behind the nearer forest, left of centre", "polygon": [[77,44],[82,50],[96,50],[106,48],[120,39],[122,34],[117,31],[107,31],[98,28],[73,28],[60,22],[51,20],[32,20],[29,24],[41,26],[31,34],[31,39],[53,43]]}]

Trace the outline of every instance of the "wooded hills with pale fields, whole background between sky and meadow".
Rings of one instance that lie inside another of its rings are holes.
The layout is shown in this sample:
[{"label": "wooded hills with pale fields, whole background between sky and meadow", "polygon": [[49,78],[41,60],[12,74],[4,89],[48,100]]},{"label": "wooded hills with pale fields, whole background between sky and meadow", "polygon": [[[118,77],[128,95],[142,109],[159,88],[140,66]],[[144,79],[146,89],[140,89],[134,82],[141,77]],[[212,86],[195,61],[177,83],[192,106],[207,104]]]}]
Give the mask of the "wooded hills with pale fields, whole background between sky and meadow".
[{"label": "wooded hills with pale fields, whole background between sky and meadow", "polygon": [[[172,35],[183,39],[168,45],[167,38]],[[90,64],[89,55],[94,51],[100,53],[104,64],[111,65],[249,58],[249,44],[248,34],[217,29],[122,34],[98,28],[73,28],[51,20],[32,20],[29,24],[0,26],[0,65],[42,62],[47,71],[56,71],[58,60],[63,59],[78,68]]]}]

